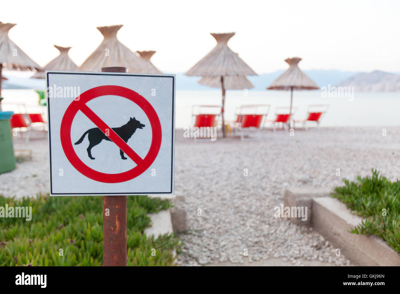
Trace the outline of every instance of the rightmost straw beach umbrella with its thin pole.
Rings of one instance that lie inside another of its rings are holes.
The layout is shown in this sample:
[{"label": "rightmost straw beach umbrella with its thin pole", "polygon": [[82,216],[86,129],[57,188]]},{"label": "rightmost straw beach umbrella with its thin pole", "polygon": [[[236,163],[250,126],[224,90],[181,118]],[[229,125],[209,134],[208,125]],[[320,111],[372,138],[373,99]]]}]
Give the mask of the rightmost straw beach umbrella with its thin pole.
[{"label": "rightmost straw beach umbrella with its thin pole", "polygon": [[288,70],[278,76],[267,90],[290,90],[290,114],[292,114],[293,90],[316,90],[320,87],[314,83],[304,72],[298,67],[300,57],[287,58],[285,61],[289,64]]}]

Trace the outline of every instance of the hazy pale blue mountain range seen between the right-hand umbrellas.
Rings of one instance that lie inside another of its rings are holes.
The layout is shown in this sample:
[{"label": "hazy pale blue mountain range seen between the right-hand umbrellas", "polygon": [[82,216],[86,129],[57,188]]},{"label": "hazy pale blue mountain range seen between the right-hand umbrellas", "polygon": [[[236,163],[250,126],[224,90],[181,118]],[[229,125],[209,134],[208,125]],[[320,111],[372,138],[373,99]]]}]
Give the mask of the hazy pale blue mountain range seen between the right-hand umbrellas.
[{"label": "hazy pale blue mountain range seen between the right-hand umbrellas", "polygon": [[[247,76],[252,82],[254,88],[251,90],[264,91],[284,70],[278,70],[269,74],[260,74],[259,76]],[[335,85],[340,80],[353,76],[356,72],[342,72],[340,70],[304,70],[316,84],[320,87]],[[185,76],[183,73],[176,74],[177,90],[216,90],[197,83],[200,80],[198,76]]]}]

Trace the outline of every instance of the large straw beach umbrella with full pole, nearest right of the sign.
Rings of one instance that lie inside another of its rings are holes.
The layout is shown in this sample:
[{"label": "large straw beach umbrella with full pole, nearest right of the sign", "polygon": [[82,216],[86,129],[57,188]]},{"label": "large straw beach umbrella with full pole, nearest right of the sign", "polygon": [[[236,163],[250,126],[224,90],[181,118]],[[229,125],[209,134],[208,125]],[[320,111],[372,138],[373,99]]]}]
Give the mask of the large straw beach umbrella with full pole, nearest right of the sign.
[{"label": "large straw beach umbrella with full pole, nearest right of the sign", "polygon": [[[187,76],[203,76],[206,80],[202,82],[210,82],[210,80],[220,79],[220,87],[222,88],[222,132],[225,137],[225,121],[224,121],[224,105],[226,82],[228,78],[236,76],[236,79],[242,79],[245,76],[257,75],[235,52],[228,47],[228,41],[235,33],[211,34],[217,41],[217,45],[202,60],[194,65],[188,72]],[[240,77],[242,76],[242,77]],[[200,82],[199,81],[199,82]],[[250,82],[249,82],[250,83]],[[213,83],[211,83],[213,84]]]}]

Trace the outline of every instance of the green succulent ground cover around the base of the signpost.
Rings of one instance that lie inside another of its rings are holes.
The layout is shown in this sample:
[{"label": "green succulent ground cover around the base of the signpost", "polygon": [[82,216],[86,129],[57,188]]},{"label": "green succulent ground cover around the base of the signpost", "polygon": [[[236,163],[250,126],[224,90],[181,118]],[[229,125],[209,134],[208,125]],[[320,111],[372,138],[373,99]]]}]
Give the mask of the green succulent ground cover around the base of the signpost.
[{"label": "green succulent ground cover around the base of the signpost", "polygon": [[[1,266],[101,266],[102,198],[99,196],[5,198],[0,206],[32,206],[32,220],[0,218]],[[174,234],[146,236],[149,213],[171,207],[168,200],[127,197],[128,266],[174,266]],[[62,250],[62,252],[61,252]],[[61,255],[62,253],[62,255]]]}]

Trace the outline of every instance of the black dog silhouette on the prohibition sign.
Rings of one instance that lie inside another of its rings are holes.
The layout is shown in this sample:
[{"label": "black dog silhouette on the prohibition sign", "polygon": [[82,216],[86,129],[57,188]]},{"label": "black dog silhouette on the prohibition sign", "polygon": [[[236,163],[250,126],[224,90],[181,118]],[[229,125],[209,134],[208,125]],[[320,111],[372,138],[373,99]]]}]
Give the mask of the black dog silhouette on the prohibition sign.
[{"label": "black dog silhouette on the prohibition sign", "polygon": [[[116,134],[120,136],[120,138],[124,140],[125,143],[127,143],[130,137],[132,137],[133,133],[136,131],[136,129],[142,129],[144,126],[144,124],[141,124],[140,121],[136,120],[135,118],[130,118],[130,120],[126,124],[120,126],[119,128],[112,128],[112,130],[114,130],[114,132],[116,132]],[[97,144],[100,144],[102,140],[111,141],[111,139],[108,138],[108,136],[106,136],[106,134],[104,134],[99,128],[92,128],[84,132],[82,137],[80,137],[75,145],[82,143],[86,134],[89,134],[89,147],[86,150],[88,150],[89,158],[94,159],[90,150],[92,150],[92,148]],[[124,152],[121,149],[120,154],[122,159],[128,159],[124,156]]]}]

